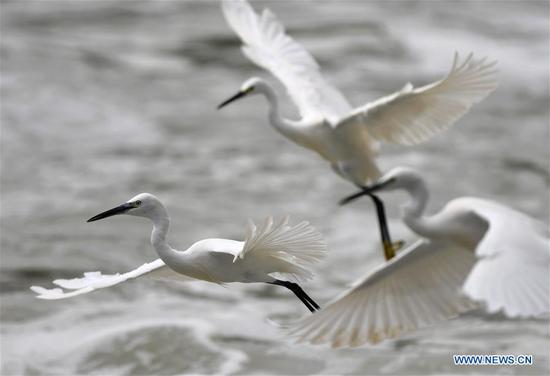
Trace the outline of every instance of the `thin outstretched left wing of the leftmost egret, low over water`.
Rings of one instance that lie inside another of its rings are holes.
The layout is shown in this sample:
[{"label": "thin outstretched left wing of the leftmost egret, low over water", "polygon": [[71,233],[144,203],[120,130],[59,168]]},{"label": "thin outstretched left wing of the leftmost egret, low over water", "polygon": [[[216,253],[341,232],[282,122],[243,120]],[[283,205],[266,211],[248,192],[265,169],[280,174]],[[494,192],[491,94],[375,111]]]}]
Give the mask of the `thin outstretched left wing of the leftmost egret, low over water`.
[{"label": "thin outstretched left wing of the leftmost egret, low over water", "polygon": [[132,278],[147,276],[154,279],[189,280],[189,278],[172,271],[161,259],[143,264],[139,268],[123,274],[102,274],[101,272],[86,272],[84,277],[73,279],[56,279],[53,283],[58,288],[47,289],[40,286],[32,286],[31,290],[39,299],[65,299],[73,296],[87,294],[89,292],[118,285]]}]

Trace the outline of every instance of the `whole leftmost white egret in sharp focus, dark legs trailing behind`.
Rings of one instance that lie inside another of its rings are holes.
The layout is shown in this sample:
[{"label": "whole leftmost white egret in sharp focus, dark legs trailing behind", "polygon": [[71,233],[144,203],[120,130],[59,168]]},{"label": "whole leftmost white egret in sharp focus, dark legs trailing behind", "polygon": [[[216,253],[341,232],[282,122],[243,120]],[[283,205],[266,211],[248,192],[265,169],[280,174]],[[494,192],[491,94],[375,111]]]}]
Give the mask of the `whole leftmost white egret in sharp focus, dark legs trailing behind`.
[{"label": "whole leftmost white egret in sharp focus, dark legs trailing behind", "polygon": [[38,298],[69,298],[147,274],[168,278],[178,278],[177,275],[180,275],[218,284],[265,282],[283,286],[291,290],[310,311],[319,309],[319,305],[297,283],[273,276],[276,274],[297,280],[307,280],[313,276],[310,267],[324,257],[326,244],[321,234],[308,222],[290,226],[286,218],[279,223],[273,223],[268,218],[259,228],[249,222],[242,242],[204,239],[182,252],[166,242],[170,218],[164,205],[152,194],[141,193],[120,206],[90,218],[88,222],[119,214],[145,217],[153,222],[151,244],[160,259],[122,275],[91,272],[85,273],[84,278],[54,281],[62,288],[73,290],[70,292],[60,288],[31,287]]}]

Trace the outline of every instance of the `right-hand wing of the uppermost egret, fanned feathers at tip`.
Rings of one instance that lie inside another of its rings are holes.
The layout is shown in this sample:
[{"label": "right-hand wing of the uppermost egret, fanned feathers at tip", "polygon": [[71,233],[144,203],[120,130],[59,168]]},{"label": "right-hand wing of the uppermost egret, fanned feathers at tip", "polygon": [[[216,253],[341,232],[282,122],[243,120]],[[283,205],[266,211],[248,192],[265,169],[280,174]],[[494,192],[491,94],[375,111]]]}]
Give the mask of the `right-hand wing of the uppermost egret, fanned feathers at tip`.
[{"label": "right-hand wing of the uppermost egret, fanned feathers at tip", "polygon": [[449,128],[497,87],[496,61],[460,61],[455,53],[451,71],[441,81],[420,88],[409,83],[400,91],[353,110],[337,129],[360,124],[380,141],[413,145]]}]

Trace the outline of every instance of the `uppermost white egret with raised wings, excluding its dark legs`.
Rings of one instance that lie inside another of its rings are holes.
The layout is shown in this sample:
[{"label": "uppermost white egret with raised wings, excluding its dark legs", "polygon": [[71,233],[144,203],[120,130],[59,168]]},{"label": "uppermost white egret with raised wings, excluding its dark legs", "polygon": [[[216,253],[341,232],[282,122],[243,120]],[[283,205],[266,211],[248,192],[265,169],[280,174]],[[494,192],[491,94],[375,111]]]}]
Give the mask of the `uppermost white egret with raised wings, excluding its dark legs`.
[{"label": "uppermost white egret with raised wings, excluding its dark legs", "polygon": [[260,78],[247,80],[221,108],[247,95],[262,94],[271,125],[295,143],[317,152],[341,177],[364,186],[380,176],[379,142],[413,145],[450,127],[497,86],[496,61],[460,60],[455,54],[442,80],[413,88],[408,83],[386,97],[352,108],[322,77],[319,65],[285,33],[275,15],[257,15],[245,0],[222,2],[227,23],[241,38],[244,54],[285,86],[301,119],[285,119],[273,88]]}]

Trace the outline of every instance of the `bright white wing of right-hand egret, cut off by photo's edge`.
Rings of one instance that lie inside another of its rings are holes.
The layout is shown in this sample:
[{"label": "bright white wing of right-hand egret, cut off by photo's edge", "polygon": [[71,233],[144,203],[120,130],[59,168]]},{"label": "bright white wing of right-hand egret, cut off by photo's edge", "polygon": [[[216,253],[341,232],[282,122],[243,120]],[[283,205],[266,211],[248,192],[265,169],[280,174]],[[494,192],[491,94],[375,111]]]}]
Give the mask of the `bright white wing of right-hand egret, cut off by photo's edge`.
[{"label": "bright white wing of right-hand egret, cut off by photo's edge", "polygon": [[489,225],[464,292],[486,303],[489,312],[509,317],[550,313],[548,226],[495,202],[463,200]]}]

